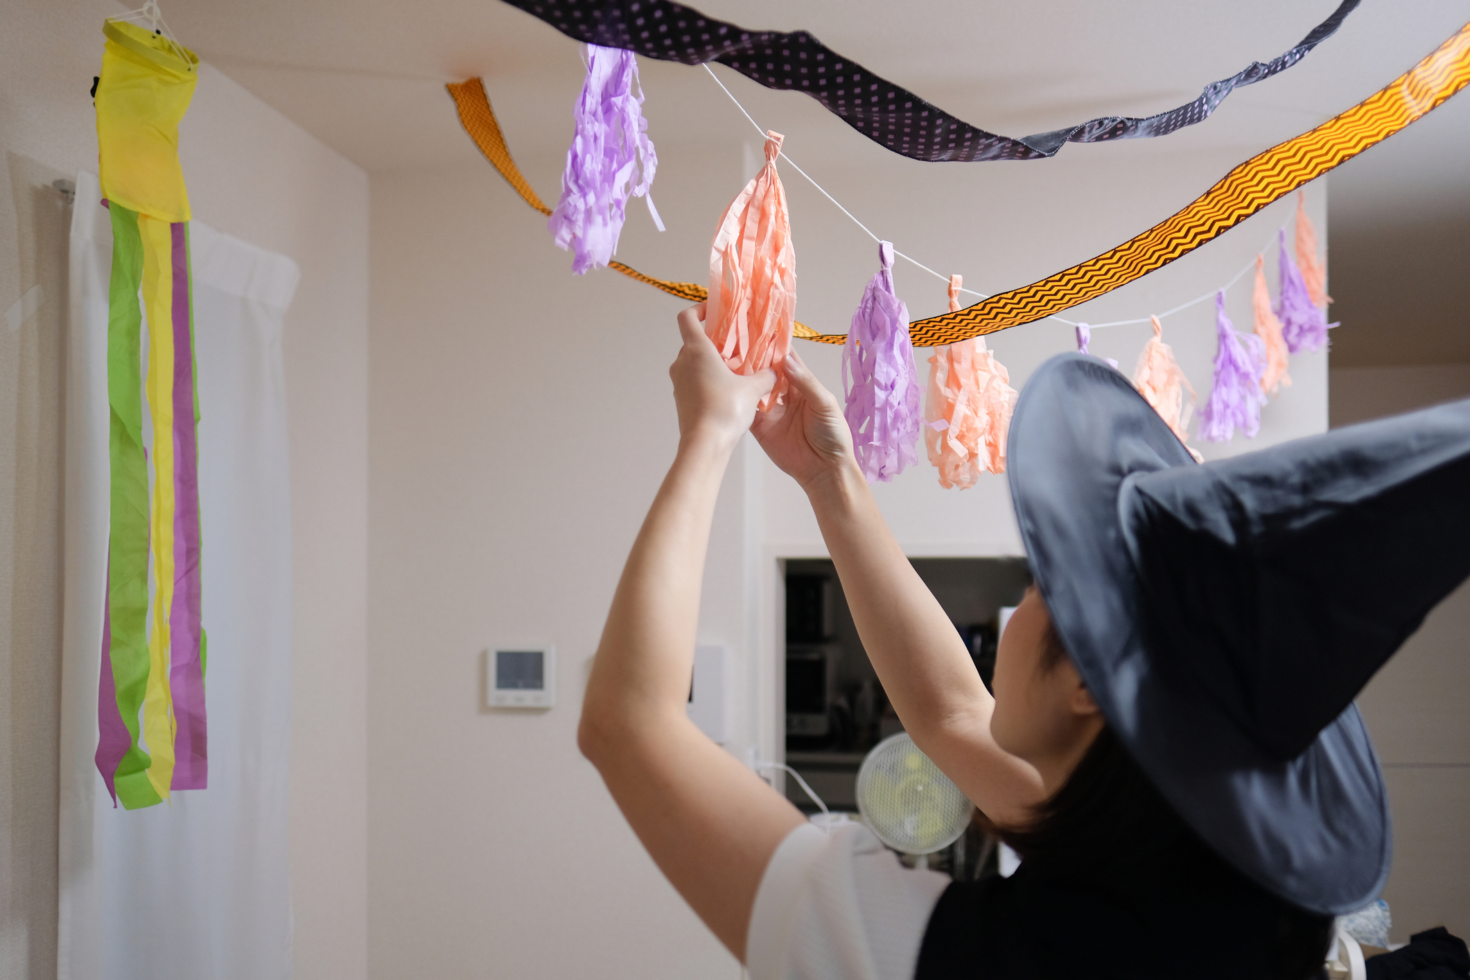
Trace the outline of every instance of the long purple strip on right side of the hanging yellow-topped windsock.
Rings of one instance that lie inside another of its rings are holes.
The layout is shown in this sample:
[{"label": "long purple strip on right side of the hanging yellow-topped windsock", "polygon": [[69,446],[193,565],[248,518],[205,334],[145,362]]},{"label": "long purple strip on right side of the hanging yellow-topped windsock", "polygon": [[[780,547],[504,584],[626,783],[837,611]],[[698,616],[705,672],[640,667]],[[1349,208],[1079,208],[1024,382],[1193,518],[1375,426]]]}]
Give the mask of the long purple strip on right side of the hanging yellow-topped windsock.
[{"label": "long purple strip on right side of the hanging yellow-topped windsock", "polygon": [[172,789],[209,785],[200,608],[198,441],[194,406],[194,317],[188,223],[171,226],[173,245],[173,605],[169,610],[169,688],[173,692]]}]

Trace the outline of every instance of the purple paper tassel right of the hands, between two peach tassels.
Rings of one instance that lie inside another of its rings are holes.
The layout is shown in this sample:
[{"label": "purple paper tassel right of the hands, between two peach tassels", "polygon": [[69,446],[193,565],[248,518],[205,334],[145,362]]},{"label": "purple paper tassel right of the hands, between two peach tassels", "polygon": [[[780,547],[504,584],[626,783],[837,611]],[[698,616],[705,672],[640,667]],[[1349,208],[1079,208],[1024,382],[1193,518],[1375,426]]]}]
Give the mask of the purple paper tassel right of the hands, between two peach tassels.
[{"label": "purple paper tassel right of the hands, between two peach tassels", "polygon": [[919,461],[919,373],[908,342],[908,307],[894,294],[894,247],[879,242],[882,269],[863,289],[842,348],[842,391],[853,450],[869,483]]}]

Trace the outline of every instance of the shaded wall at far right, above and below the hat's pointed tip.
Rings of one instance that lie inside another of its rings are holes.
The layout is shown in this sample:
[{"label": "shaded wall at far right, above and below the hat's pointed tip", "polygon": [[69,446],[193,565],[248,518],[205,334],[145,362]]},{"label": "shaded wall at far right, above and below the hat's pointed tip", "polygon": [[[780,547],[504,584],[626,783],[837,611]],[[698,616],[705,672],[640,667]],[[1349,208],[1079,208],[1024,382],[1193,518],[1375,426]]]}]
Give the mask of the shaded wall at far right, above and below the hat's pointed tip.
[{"label": "shaded wall at far right, above and below the hat's pointed tip", "polygon": [[[1470,364],[1333,367],[1332,425],[1470,398]],[[1358,698],[1388,782],[1394,940],[1470,934],[1470,583],[1461,585]]]}]

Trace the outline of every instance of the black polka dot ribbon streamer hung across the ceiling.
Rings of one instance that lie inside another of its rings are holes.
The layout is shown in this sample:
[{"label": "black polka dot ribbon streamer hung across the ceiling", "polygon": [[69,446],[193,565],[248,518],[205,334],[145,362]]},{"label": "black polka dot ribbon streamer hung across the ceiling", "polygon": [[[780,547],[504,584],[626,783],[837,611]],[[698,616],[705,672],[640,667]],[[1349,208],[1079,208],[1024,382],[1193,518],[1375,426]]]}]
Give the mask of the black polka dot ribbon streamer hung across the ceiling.
[{"label": "black polka dot ribbon streamer hung across the ceiling", "polygon": [[1205,87],[1192,103],[1155,116],[1100,116],[1066,129],[1014,140],[951,116],[907,88],[842,57],[806,31],[747,31],[669,0],[506,0],[587,44],[617,47],[662,62],[719,62],[766,88],[806,93],[864,137],[911,160],[1041,160],[1066,143],[1142,140],[1192,126],[1226,96],[1286,71],[1336,32],[1360,0],[1342,0],[1299,44],[1270,62],[1251,62]]}]

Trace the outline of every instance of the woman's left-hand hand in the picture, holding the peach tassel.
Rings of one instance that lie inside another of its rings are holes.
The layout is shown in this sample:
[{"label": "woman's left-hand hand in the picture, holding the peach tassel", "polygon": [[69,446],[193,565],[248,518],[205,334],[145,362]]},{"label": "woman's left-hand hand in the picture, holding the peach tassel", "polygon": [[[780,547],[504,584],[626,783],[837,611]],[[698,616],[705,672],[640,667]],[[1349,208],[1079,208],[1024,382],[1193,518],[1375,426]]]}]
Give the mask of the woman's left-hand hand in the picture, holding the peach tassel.
[{"label": "woman's left-hand hand in the picture, holding the peach tassel", "polygon": [[754,375],[736,375],[704,334],[704,304],[679,314],[684,347],[669,366],[673,404],[679,410],[679,442],[711,439],[729,450],[750,429],[756,403],[776,383],[769,367]]}]

